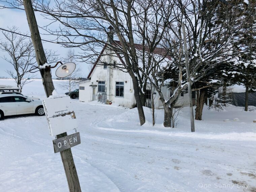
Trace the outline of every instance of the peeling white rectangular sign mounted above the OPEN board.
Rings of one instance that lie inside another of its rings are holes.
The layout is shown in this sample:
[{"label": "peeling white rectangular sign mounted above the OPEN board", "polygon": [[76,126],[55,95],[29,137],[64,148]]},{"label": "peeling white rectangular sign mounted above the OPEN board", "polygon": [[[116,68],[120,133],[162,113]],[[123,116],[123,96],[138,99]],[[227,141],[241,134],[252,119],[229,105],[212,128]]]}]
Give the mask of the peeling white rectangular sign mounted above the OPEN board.
[{"label": "peeling white rectangular sign mounted above the OPEN board", "polygon": [[77,128],[69,96],[44,99],[43,107],[52,136]]}]

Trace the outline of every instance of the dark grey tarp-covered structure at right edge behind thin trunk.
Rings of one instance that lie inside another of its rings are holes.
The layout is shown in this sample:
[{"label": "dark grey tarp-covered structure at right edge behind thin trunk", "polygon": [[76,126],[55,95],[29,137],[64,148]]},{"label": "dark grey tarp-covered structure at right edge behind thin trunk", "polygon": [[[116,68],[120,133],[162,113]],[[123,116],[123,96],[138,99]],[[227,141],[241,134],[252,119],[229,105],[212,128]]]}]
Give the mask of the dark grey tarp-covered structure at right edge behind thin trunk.
[{"label": "dark grey tarp-covered structure at right edge behind thin trunk", "polygon": [[[245,93],[230,93],[231,104],[235,106],[245,106]],[[256,106],[256,92],[248,93],[248,106]]]}]

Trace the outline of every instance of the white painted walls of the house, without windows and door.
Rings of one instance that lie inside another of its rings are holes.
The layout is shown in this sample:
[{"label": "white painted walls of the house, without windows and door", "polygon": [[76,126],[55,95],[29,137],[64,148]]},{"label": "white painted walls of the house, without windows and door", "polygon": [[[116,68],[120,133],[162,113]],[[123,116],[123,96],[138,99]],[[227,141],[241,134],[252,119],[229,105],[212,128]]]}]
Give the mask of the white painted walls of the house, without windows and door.
[{"label": "white painted walls of the house, without windows and door", "polygon": [[[113,61],[115,61],[117,64],[120,65],[122,63],[115,54],[113,54],[113,56],[107,56],[106,50],[104,51],[103,55],[105,56],[101,56],[98,62],[100,64],[94,68],[90,76],[91,79],[88,81],[78,83],[79,86],[85,87],[85,90],[79,90],[79,100],[84,102],[92,101],[93,88],[90,85],[97,85],[96,90],[98,95],[98,82],[105,81],[106,95],[107,100],[109,102],[118,103],[121,106],[125,107],[134,107],[136,102],[134,98],[133,84],[130,75],[127,72],[113,68],[113,66],[108,66],[107,69],[104,69],[102,62],[113,63]],[[124,82],[124,97],[116,96],[116,82]],[[147,89],[150,90],[150,84],[148,84]],[[159,100],[158,92],[156,90],[154,92],[156,93],[154,95],[155,108],[163,108],[163,104]],[[167,88],[167,86],[162,87],[162,93],[164,95],[165,100],[168,100],[170,97],[170,90]],[[180,96],[177,103],[174,106],[183,106],[188,104],[188,94],[184,94],[184,97]]]}]

